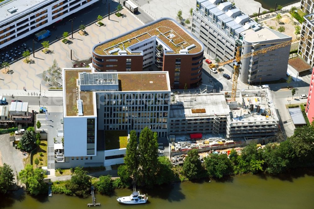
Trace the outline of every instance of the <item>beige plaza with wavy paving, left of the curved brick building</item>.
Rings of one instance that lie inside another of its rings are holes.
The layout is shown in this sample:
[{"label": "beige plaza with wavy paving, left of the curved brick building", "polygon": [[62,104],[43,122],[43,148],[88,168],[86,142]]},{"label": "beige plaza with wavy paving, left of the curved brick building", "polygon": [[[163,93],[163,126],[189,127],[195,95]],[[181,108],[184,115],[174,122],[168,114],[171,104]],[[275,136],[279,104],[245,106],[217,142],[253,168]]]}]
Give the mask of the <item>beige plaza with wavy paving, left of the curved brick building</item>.
[{"label": "beige plaza with wavy paving, left of the curved brick building", "polygon": [[[115,2],[111,2],[111,12],[114,12],[116,4]],[[13,74],[0,73],[0,88],[23,91],[23,87],[25,87],[28,91],[32,91],[39,90],[41,84],[41,90],[48,89],[50,86],[42,80],[42,73],[46,71],[48,67],[51,67],[54,59],[56,59],[58,66],[61,68],[73,67],[70,54],[71,50],[73,51],[73,60],[89,60],[91,58],[92,47],[95,44],[143,25],[133,15],[129,14],[126,9],[121,11],[121,13],[126,15],[126,17],[123,18],[117,17],[112,13],[110,20],[108,20],[106,16],[107,13],[107,4],[100,3],[99,6],[95,7],[93,10],[77,16],[74,20],[75,24],[73,30],[77,30],[80,24],[89,25],[85,29],[88,35],[82,36],[76,31],[73,34],[74,39],[71,44],[64,44],[61,39],[56,40],[56,35],[58,38],[61,38],[64,31],[68,31],[69,34],[71,33],[71,22],[67,21],[66,24],[58,26],[56,31],[51,31],[51,36],[48,39],[43,40],[49,40],[51,43],[49,50],[53,51],[53,53],[44,54],[39,50],[35,52],[35,58],[33,54],[31,54],[30,59],[34,60],[35,64],[24,63],[24,59],[12,63],[10,70],[13,70]],[[93,23],[99,14],[105,16],[102,22],[106,24],[106,26],[98,27]],[[29,47],[32,46],[32,40],[29,40],[26,44]],[[35,49],[40,47],[41,43],[35,45]]]}]

